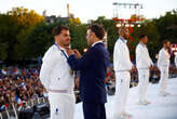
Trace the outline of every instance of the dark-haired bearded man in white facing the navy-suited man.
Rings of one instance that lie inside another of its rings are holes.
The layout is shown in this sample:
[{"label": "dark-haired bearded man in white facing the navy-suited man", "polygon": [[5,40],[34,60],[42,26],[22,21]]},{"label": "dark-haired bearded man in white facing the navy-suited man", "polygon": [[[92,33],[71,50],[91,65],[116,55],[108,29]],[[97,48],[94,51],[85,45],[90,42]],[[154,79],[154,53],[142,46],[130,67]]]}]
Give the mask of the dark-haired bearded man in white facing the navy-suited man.
[{"label": "dark-haired bearded man in white facing the navy-suited man", "polygon": [[69,29],[57,26],[53,30],[55,44],[44,54],[40,80],[49,91],[51,119],[73,119],[74,78],[67,63],[65,48],[70,44]]}]

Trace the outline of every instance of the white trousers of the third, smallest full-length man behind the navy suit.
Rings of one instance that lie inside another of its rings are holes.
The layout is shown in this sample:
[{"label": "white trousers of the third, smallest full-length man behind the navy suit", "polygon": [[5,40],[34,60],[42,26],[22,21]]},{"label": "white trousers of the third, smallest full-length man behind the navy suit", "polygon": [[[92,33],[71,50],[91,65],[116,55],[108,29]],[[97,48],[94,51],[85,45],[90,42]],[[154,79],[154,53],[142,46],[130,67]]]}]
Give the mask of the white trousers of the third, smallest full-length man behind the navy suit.
[{"label": "white trousers of the third, smallest full-length man behind the navy suit", "polygon": [[168,67],[160,67],[161,79],[160,79],[160,92],[165,92],[167,88],[168,80]]}]

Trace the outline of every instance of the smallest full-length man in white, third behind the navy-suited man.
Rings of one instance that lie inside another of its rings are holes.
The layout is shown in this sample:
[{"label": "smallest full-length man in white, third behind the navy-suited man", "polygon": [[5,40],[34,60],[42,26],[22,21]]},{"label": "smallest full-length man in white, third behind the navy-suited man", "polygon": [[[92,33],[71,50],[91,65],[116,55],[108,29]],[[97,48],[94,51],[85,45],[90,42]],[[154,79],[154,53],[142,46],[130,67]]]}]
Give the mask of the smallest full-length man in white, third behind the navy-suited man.
[{"label": "smallest full-length man in white, third behind the navy-suited man", "polygon": [[169,58],[171,58],[169,49],[171,49],[171,42],[168,40],[165,40],[163,42],[163,48],[159,52],[159,57],[158,57],[158,67],[161,71],[160,95],[162,96],[169,95],[169,93],[166,92],[167,80],[168,80]]}]

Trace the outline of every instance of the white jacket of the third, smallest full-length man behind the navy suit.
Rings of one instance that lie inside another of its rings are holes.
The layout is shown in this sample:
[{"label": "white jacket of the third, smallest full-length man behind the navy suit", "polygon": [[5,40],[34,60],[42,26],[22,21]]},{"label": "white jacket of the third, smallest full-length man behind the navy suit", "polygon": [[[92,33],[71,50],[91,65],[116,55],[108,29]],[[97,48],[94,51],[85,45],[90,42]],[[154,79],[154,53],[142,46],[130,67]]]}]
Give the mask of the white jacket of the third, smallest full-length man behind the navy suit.
[{"label": "white jacket of the third, smallest full-length man behind the navy suit", "polygon": [[169,66],[171,54],[164,48],[159,52],[158,67],[168,67]]}]

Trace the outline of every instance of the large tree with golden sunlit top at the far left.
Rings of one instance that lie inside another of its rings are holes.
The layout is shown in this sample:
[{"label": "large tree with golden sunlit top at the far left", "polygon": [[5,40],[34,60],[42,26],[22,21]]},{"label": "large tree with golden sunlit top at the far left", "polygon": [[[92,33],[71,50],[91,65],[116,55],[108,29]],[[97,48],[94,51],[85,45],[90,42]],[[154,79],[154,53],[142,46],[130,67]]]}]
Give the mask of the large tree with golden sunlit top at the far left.
[{"label": "large tree with golden sunlit top at the far left", "polygon": [[0,14],[0,43],[6,44],[1,48],[4,55],[0,57],[2,60],[26,57],[27,37],[35,26],[43,21],[43,16],[24,8],[13,8],[6,14]]}]

